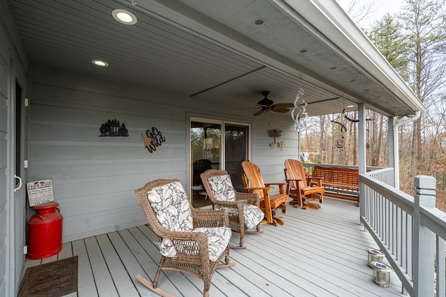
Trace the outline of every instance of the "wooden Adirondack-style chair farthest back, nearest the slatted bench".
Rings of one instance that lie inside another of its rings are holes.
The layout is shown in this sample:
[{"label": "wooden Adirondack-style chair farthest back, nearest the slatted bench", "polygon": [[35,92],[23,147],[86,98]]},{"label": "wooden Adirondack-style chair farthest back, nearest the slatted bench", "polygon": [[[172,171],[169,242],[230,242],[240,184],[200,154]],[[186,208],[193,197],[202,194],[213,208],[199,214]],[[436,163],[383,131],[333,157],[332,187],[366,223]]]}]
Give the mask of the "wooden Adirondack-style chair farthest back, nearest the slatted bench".
[{"label": "wooden Adirondack-style chair farthest back, nearest the slatted bench", "polygon": [[319,209],[321,206],[309,201],[319,200],[323,203],[323,194],[325,190],[321,184],[321,179],[314,179],[318,186],[312,186],[314,180],[306,177],[303,163],[287,159],[285,161],[285,179],[286,179],[286,193],[293,198],[290,204],[294,207],[302,207],[303,209]]}]

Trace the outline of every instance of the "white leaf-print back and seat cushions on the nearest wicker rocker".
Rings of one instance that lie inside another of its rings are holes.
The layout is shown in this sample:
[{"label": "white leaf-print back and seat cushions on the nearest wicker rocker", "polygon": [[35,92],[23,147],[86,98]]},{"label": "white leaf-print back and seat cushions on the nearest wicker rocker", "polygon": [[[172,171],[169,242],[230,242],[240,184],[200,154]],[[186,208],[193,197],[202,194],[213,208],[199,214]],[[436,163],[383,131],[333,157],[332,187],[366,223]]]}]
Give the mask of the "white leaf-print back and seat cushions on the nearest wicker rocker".
[{"label": "white leaf-print back and seat cushions on the nearest wicker rocker", "polygon": [[[208,234],[209,259],[217,261],[231,239],[231,228],[209,227],[193,229],[192,210],[180,182],[157,186],[147,192],[153,211],[162,227],[169,231],[205,232]],[[161,255],[176,257],[174,243],[163,238],[159,243]]]}]

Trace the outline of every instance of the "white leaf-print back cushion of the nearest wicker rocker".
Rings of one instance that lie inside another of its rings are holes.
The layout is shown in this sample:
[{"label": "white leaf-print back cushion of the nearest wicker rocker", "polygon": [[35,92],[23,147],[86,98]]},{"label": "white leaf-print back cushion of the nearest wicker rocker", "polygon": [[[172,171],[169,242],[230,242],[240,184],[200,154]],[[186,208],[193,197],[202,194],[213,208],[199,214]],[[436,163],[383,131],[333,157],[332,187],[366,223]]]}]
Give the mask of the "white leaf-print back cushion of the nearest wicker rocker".
[{"label": "white leaf-print back cushion of the nearest wicker rocker", "polygon": [[151,188],[147,192],[153,211],[162,227],[169,231],[192,231],[192,211],[180,182]]}]

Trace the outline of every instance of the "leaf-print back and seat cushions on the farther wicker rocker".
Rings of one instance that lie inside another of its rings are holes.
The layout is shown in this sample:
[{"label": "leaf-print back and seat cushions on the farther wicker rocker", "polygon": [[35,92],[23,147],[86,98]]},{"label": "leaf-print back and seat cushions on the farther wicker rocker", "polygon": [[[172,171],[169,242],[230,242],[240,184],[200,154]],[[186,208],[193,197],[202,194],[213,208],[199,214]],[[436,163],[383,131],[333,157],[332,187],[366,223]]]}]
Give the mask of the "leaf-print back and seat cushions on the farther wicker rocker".
[{"label": "leaf-print back and seat cushions on the farther wicker rocker", "polygon": [[[214,175],[208,178],[208,182],[217,200],[236,201],[236,192],[233,189],[229,175]],[[215,209],[224,209],[230,216],[238,216],[238,211],[233,208],[215,205]],[[245,226],[248,229],[259,225],[264,216],[265,214],[263,214],[263,211],[259,207],[251,204],[243,204],[243,218],[245,218]]]}]

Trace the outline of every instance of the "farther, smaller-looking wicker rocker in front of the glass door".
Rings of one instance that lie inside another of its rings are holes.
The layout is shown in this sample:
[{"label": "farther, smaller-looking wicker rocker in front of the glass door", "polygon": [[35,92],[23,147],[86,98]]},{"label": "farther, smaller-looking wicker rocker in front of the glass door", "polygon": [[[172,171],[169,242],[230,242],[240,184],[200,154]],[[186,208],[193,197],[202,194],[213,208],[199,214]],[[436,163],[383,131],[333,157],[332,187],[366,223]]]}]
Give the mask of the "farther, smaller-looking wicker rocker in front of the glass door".
[{"label": "farther, smaller-looking wicker rocker in front of the glass door", "polygon": [[[256,193],[240,193],[233,188],[231,177],[224,170],[210,169],[201,174],[204,188],[215,209],[223,209],[229,215],[229,226],[240,232],[240,247],[246,234],[261,233],[259,223],[265,216],[261,211],[259,195]],[[256,228],[256,232],[248,232]]]}]

